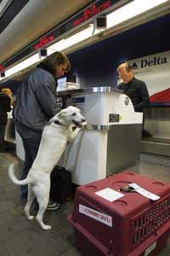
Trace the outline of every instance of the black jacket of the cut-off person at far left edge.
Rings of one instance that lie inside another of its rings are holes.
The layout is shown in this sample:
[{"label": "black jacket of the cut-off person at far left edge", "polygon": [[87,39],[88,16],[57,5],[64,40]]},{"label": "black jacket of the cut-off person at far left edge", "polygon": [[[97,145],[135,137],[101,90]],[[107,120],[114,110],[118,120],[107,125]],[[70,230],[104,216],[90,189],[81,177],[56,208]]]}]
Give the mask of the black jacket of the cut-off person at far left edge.
[{"label": "black jacket of the cut-off person at far left edge", "polygon": [[8,114],[7,112],[11,111],[10,108],[10,98],[9,96],[0,93],[0,124],[7,124]]}]

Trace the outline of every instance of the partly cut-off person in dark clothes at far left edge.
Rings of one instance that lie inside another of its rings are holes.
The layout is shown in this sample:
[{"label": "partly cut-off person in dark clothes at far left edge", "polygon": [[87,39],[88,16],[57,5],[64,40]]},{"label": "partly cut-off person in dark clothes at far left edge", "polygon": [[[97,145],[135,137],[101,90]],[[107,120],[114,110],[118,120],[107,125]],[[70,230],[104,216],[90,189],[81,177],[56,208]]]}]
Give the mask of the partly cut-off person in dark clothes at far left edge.
[{"label": "partly cut-off person in dark clothes at far left edge", "polygon": [[3,88],[0,93],[0,153],[5,151],[5,130],[8,121],[8,112],[11,111],[12,92],[8,88]]}]

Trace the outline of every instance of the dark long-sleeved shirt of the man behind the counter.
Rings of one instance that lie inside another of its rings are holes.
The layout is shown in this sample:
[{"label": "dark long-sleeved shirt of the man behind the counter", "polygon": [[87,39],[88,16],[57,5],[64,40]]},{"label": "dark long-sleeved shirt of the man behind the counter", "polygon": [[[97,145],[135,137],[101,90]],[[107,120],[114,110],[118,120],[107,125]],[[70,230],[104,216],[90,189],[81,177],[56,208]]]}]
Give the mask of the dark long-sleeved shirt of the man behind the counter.
[{"label": "dark long-sleeved shirt of the man behind the counter", "polygon": [[133,78],[127,84],[123,82],[118,85],[118,89],[124,90],[124,93],[133,102],[133,107],[136,112],[143,112],[143,109],[150,105],[150,96],[146,84]]}]

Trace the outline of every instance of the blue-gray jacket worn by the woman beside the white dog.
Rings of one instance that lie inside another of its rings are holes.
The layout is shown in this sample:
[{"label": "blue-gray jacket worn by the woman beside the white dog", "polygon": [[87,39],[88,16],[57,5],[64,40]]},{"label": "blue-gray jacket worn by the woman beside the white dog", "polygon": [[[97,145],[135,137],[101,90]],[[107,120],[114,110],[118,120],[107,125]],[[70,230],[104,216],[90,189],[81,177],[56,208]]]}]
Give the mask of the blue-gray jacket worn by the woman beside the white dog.
[{"label": "blue-gray jacket worn by the woman beside the white dog", "polygon": [[56,113],[54,75],[37,67],[22,81],[14,102],[13,117],[22,125],[42,130]]}]

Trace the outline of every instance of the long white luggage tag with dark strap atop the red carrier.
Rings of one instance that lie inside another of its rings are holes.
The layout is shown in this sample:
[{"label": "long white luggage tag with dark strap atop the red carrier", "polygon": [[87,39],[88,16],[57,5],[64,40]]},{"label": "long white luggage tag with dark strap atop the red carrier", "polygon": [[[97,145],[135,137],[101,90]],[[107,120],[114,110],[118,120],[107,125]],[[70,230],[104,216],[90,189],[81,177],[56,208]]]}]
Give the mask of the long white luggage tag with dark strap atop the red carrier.
[{"label": "long white luggage tag with dark strap atop the red carrier", "polygon": [[141,188],[139,185],[137,185],[136,183],[130,183],[128,184],[127,187],[125,188],[121,188],[120,191],[124,191],[124,192],[137,192],[140,195],[144,195],[145,197],[149,198],[152,201],[156,201],[160,199],[159,195],[150,193],[149,191]]}]

